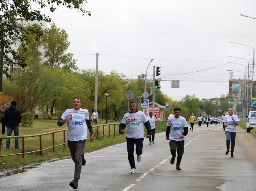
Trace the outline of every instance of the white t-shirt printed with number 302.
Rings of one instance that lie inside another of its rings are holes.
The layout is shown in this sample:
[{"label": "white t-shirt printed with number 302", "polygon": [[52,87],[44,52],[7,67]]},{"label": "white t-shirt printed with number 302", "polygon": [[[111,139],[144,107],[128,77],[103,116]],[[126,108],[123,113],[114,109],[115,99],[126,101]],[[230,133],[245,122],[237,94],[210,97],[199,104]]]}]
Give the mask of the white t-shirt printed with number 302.
[{"label": "white t-shirt printed with number 302", "polygon": [[180,116],[179,118],[175,118],[174,116],[170,117],[167,122],[167,126],[171,127],[170,130],[170,139],[175,141],[182,141],[185,139],[180,138],[181,134],[184,132],[184,127],[188,127],[187,120]]}]

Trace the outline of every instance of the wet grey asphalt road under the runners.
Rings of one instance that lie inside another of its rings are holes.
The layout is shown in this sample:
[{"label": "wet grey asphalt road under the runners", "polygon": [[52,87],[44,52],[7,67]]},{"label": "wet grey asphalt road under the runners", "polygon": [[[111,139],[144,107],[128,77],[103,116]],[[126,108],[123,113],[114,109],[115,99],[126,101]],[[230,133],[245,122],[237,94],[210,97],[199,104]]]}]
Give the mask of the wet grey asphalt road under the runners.
[{"label": "wet grey asphalt road under the runners", "polygon": [[[120,135],[124,136],[124,135]],[[131,174],[126,143],[86,153],[77,190],[89,191],[255,191],[256,138],[238,127],[234,157],[225,155],[222,125],[195,124],[185,139],[181,169],[170,164],[169,141],[156,134],[155,145],[145,138],[142,160]],[[136,154],[135,154],[136,155]],[[176,163],[176,160],[175,160]],[[11,173],[10,173],[11,174]],[[0,178],[5,191],[70,191],[74,163],[71,159],[47,162]]]}]

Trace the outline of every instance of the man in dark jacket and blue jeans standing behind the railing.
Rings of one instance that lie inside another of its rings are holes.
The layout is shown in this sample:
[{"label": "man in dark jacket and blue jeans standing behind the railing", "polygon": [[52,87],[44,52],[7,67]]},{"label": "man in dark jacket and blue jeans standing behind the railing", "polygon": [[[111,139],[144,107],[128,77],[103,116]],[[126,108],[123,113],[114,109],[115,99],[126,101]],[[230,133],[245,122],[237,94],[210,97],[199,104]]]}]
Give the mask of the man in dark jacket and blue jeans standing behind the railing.
[{"label": "man in dark jacket and blue jeans standing behind the railing", "polygon": [[[11,106],[5,110],[4,121],[7,126],[7,136],[11,136],[12,130],[14,131],[14,136],[19,135],[19,123],[21,122],[22,116],[16,105],[17,102],[12,100]],[[15,149],[19,150],[19,138],[15,138],[14,143]],[[10,149],[10,139],[6,139],[6,149]]]}]

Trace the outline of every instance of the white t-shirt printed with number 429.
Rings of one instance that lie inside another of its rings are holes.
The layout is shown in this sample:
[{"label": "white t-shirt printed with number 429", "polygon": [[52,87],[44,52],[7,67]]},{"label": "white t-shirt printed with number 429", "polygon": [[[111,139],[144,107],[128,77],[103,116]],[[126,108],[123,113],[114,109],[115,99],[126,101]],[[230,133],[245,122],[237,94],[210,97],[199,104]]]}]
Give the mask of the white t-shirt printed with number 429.
[{"label": "white t-shirt printed with number 429", "polygon": [[61,116],[61,119],[68,119],[68,136],[69,141],[80,141],[87,139],[87,124],[85,120],[90,120],[87,109],[67,109]]}]

